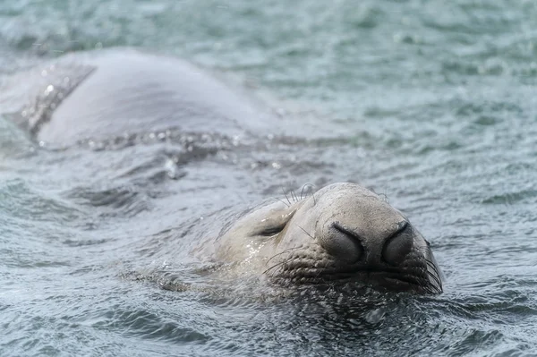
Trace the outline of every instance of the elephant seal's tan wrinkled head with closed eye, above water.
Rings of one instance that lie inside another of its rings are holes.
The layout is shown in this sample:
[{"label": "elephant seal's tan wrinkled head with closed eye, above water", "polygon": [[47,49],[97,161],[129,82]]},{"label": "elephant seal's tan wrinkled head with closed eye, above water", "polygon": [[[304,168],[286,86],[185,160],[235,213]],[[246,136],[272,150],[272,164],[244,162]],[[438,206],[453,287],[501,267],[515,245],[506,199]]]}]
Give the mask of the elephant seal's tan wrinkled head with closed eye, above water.
[{"label": "elephant seal's tan wrinkled head with closed eye, above water", "polygon": [[283,285],[357,282],[442,293],[429,242],[399,211],[354,183],[254,208],[217,239],[217,259],[246,261]]}]

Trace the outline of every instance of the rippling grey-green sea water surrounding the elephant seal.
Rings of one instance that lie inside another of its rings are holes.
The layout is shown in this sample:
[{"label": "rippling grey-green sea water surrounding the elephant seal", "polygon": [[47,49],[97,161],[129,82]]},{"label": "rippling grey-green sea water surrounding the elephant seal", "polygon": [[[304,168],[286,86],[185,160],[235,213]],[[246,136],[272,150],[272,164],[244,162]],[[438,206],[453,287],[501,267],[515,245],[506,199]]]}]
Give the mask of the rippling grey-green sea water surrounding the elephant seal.
[{"label": "rippling grey-green sea water surrounding the elephant seal", "polygon": [[[107,47],[302,130],[58,150],[4,115],[12,73]],[[536,85],[533,0],[3,1],[0,355],[537,355]],[[410,217],[444,293],[260,292],[185,253],[220,214],[339,181]]]}]

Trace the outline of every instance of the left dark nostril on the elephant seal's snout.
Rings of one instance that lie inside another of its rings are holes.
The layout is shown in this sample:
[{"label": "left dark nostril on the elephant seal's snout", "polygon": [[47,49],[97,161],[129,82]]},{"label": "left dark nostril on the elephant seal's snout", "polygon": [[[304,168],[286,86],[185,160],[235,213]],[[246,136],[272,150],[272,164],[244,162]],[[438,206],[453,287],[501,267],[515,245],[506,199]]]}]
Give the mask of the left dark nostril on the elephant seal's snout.
[{"label": "left dark nostril on the elephant seal's snout", "polygon": [[329,225],[328,234],[321,238],[320,243],[328,254],[337,260],[353,264],[363,254],[360,237],[352,231],[345,229],[338,222]]}]

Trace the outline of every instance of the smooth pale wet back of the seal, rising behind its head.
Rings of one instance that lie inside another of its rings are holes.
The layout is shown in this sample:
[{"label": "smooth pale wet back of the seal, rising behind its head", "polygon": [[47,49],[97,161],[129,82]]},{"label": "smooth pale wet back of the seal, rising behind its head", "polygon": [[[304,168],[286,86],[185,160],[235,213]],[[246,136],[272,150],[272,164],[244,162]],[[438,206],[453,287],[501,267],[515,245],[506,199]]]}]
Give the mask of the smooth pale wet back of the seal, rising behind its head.
[{"label": "smooth pale wet back of the seal, rising behind its head", "polygon": [[281,121],[193,64],[126,48],[64,55],[13,75],[0,83],[0,113],[60,146],[170,128],[244,137],[276,133]]}]

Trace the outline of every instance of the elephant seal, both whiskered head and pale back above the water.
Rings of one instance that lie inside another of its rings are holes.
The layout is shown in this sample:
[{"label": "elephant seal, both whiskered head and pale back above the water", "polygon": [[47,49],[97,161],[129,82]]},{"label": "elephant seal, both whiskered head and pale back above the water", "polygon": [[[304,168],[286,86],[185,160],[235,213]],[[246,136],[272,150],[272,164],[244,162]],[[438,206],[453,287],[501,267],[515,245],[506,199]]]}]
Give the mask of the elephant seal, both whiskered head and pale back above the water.
[{"label": "elephant seal, both whiskered head and pale back above the water", "polygon": [[[280,126],[222,82],[175,58],[118,50],[67,55],[45,68],[33,72],[33,81],[11,81],[41,88],[15,118],[37,140],[71,145],[173,126],[247,135]],[[13,98],[0,98],[0,112]],[[429,243],[399,211],[354,183],[251,209],[205,245],[215,259],[246,263],[280,285],[350,281],[442,292]]]}]

